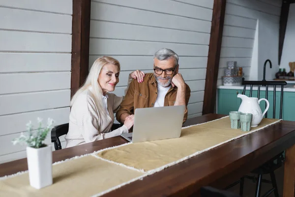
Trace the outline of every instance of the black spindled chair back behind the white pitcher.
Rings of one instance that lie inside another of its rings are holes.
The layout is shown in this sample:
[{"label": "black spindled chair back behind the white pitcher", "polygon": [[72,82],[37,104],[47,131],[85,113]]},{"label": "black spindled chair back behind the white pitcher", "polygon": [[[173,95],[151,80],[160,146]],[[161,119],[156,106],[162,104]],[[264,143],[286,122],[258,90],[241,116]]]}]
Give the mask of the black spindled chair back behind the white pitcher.
[{"label": "black spindled chair back behind the white pitcher", "polygon": [[[246,93],[246,86],[250,86],[250,97],[252,97],[252,92],[253,92],[253,86],[258,86],[258,93],[257,93],[257,98],[260,99],[260,87],[261,86],[266,86],[266,98],[268,99],[268,87],[273,86],[273,113],[272,113],[272,118],[275,118],[275,106],[276,106],[276,88],[277,86],[281,87],[281,97],[280,97],[280,116],[279,118],[282,119],[282,114],[283,114],[283,91],[284,91],[284,86],[287,85],[286,81],[243,81],[242,85],[244,85],[244,90],[243,93],[245,95]],[[256,96],[256,95],[255,95]],[[265,114],[265,117],[267,118],[267,112]]]}]

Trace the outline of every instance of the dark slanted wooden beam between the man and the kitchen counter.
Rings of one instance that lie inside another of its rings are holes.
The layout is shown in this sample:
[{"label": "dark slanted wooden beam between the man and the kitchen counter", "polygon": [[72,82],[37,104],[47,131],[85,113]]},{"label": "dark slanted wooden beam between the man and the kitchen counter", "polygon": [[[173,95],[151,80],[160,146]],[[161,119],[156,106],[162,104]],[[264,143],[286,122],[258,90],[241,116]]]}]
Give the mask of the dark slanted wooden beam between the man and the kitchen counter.
[{"label": "dark slanted wooden beam between the man and the kitchen counter", "polygon": [[203,115],[214,112],[226,0],[214,0],[207,61]]}]

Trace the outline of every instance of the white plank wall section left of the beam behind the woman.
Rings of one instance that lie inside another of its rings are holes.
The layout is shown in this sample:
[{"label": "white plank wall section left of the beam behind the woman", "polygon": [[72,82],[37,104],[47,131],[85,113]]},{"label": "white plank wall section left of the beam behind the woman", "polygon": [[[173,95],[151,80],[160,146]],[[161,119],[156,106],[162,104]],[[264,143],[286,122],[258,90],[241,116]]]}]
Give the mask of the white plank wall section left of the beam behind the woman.
[{"label": "white plank wall section left of the beam behind the woman", "polygon": [[68,123],[72,9],[72,0],[0,0],[0,163],[26,157],[11,140],[30,120]]}]

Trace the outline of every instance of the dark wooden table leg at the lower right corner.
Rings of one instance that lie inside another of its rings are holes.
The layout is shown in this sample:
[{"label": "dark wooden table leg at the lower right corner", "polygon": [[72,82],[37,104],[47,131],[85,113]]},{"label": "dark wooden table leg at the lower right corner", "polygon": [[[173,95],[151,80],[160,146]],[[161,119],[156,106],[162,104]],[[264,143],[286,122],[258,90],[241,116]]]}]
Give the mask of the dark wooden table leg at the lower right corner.
[{"label": "dark wooden table leg at the lower right corner", "polygon": [[286,150],[283,197],[295,197],[295,144]]}]

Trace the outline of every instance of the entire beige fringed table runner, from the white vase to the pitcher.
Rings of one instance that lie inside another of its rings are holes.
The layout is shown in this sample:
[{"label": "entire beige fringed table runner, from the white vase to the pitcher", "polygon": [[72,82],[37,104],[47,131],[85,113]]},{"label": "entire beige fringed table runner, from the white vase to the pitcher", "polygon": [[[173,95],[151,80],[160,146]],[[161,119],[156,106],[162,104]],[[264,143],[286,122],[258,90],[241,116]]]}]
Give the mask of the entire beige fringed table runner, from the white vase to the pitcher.
[{"label": "entire beige fringed table runner, from the white vase to the pitcher", "polygon": [[229,117],[183,128],[181,137],[128,143],[53,165],[53,185],[29,186],[28,173],[0,178],[0,196],[101,196],[279,120],[263,119],[252,131],[230,128]]}]

